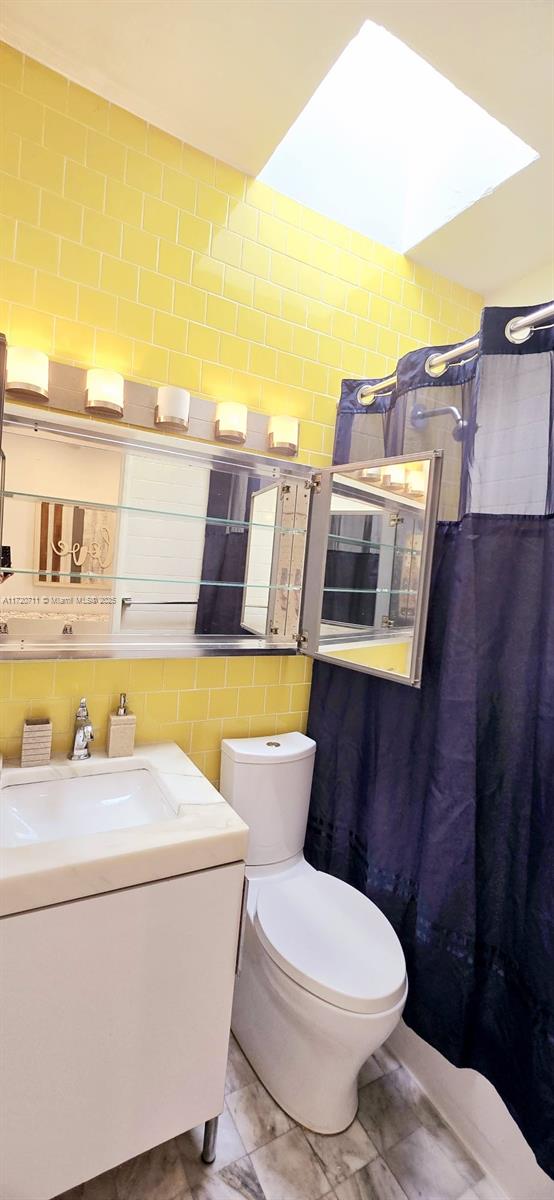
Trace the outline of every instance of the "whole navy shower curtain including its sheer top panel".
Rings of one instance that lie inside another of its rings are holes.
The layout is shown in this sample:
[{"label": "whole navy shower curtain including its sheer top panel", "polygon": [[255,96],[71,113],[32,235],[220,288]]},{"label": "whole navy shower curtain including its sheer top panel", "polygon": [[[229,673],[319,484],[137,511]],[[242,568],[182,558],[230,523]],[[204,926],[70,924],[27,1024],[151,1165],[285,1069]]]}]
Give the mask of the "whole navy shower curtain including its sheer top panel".
[{"label": "whole navy shower curtain including its sheer top panel", "polygon": [[554,330],[510,341],[528,312],[486,308],[441,376],[446,347],[405,355],[371,407],[374,380],[343,383],[335,462],[442,449],[447,520],[421,690],[314,666],[306,856],[386,913],[408,1025],[492,1081],[554,1177]]}]

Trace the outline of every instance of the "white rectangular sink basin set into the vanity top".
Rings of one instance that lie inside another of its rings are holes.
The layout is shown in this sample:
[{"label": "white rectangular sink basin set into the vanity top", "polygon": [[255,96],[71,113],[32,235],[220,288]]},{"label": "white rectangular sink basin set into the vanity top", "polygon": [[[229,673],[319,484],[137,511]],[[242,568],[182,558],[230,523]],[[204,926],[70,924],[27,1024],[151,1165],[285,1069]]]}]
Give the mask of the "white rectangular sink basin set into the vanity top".
[{"label": "white rectangular sink basin set into the vanity top", "polygon": [[145,768],[2,788],[0,846],[34,846],[175,818]]}]

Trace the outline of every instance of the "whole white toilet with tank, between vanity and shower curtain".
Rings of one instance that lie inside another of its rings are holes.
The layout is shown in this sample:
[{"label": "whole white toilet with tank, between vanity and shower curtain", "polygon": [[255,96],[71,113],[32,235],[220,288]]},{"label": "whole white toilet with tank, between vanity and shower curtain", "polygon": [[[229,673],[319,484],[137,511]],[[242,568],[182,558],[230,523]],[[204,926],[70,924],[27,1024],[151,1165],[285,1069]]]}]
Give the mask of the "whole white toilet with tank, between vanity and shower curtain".
[{"label": "whole white toilet with tank, between vanity and shower curtain", "polygon": [[357,1110],[357,1075],[398,1024],[408,980],[380,910],[302,853],[315,743],[222,743],[219,790],[249,827],[233,1032],[275,1100],[317,1133]]}]

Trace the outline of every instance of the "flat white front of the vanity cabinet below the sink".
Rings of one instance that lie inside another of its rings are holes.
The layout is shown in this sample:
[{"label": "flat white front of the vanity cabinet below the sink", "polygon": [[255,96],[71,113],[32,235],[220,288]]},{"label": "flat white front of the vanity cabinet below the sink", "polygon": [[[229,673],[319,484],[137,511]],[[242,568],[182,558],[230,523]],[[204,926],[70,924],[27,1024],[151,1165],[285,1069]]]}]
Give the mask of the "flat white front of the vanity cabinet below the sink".
[{"label": "flat white front of the vanity cabinet below the sink", "polygon": [[243,864],[0,922],[0,1196],[47,1200],[223,1109]]}]

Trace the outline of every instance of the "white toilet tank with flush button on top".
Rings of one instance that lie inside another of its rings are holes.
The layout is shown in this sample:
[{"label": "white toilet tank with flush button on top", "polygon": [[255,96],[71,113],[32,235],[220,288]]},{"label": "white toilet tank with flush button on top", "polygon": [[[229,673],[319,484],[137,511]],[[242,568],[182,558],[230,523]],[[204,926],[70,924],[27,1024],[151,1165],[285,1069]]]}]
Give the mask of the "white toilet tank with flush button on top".
[{"label": "white toilet tank with flush button on top", "polygon": [[303,733],[222,742],[219,791],[249,827],[247,863],[283,863],[303,848],[315,742]]}]

